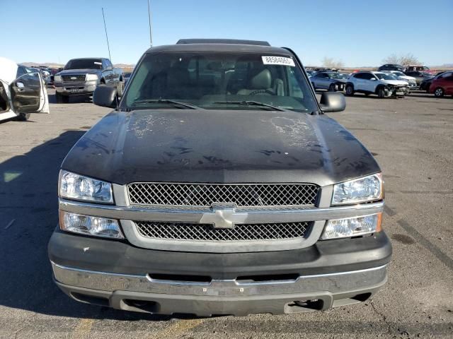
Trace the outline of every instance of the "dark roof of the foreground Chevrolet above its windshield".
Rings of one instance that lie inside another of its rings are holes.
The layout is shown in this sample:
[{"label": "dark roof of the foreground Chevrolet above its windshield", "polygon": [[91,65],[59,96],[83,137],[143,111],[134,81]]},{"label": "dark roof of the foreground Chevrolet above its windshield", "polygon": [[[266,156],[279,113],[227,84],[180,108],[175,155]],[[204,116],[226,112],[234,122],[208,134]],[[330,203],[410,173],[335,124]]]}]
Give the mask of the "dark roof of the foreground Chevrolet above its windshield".
[{"label": "dark roof of the foreground Chevrolet above its windshield", "polygon": [[[181,41],[181,40],[180,40]],[[272,47],[265,44],[247,44],[248,40],[236,40],[232,42],[195,42],[167,44],[163,46],[151,47],[146,53],[153,52],[257,52],[263,54],[283,54],[292,56],[292,53],[285,48]],[[242,43],[244,42],[244,43]]]}]

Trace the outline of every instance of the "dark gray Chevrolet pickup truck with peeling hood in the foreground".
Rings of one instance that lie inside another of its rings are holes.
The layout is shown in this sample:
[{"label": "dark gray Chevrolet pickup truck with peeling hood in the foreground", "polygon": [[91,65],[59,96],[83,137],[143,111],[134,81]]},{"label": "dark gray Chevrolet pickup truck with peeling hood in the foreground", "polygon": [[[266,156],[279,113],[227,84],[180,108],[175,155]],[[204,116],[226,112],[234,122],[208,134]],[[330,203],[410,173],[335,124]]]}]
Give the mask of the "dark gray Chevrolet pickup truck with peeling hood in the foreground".
[{"label": "dark gray Chevrolet pickup truck with peeling hood in the foreground", "polygon": [[317,102],[296,54],[249,40],[151,47],[118,107],[69,152],[55,283],[153,314],[292,314],[364,302],[387,279],[384,187]]}]

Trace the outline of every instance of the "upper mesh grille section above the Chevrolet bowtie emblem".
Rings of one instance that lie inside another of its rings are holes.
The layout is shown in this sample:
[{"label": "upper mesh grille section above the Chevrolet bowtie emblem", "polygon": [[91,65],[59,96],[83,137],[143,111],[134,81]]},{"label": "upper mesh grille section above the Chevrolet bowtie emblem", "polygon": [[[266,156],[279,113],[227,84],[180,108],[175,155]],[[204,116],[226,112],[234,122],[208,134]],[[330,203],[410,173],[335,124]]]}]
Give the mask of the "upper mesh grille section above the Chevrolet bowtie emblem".
[{"label": "upper mesh grille section above the Chevrolet bowtie emblem", "polygon": [[204,206],[236,203],[249,206],[314,206],[315,184],[166,184],[127,185],[130,203],[157,206]]}]

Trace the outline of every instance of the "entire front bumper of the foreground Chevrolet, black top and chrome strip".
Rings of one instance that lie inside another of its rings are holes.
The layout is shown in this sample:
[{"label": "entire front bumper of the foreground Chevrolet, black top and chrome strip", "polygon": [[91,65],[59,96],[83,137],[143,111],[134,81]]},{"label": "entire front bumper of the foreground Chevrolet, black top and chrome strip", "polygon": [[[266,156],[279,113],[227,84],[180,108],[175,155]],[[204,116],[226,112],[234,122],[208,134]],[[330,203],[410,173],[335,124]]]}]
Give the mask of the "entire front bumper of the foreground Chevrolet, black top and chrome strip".
[{"label": "entire front bumper of the foreground Chevrolet, black top and chrome strip", "polygon": [[[156,314],[242,316],[365,301],[386,283],[391,244],[381,232],[290,251],[188,253],[56,230],[49,256],[57,285],[81,302]],[[200,276],[209,280],[191,278]]]}]

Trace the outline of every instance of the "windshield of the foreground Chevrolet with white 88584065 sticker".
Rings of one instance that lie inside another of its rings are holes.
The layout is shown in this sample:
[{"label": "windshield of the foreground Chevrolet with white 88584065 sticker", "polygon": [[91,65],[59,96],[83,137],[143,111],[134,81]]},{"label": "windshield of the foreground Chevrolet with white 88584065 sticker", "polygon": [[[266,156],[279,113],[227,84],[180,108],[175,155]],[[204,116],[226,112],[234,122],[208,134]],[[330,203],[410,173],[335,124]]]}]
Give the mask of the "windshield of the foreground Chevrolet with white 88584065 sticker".
[{"label": "windshield of the foreground Chevrolet with white 88584065 sticker", "polygon": [[174,108],[169,100],[209,109],[318,109],[299,66],[290,57],[265,53],[149,53],[137,66],[122,105]]}]

